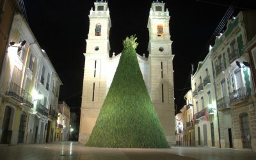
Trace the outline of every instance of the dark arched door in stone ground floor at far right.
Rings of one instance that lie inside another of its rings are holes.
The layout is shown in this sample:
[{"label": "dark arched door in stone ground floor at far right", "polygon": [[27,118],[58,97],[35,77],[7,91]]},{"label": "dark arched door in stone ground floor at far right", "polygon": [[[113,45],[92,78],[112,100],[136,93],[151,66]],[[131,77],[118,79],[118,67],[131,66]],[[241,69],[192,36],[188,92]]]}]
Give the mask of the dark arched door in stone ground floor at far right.
[{"label": "dark arched door in stone ground floor at far right", "polygon": [[239,116],[241,121],[241,136],[243,148],[252,148],[248,114],[242,113]]}]

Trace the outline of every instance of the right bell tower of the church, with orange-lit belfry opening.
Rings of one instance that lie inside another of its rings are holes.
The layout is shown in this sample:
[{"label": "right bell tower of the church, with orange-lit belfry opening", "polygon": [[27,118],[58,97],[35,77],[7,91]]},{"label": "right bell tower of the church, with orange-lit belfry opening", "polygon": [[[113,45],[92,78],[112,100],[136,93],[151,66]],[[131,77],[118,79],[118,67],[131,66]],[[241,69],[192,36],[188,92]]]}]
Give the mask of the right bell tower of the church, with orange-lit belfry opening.
[{"label": "right bell tower of the church, with orange-lit belfry opening", "polygon": [[157,115],[172,145],[175,144],[173,88],[173,54],[169,28],[170,16],[163,2],[153,2],[148,18],[148,62],[150,64],[150,97]]}]

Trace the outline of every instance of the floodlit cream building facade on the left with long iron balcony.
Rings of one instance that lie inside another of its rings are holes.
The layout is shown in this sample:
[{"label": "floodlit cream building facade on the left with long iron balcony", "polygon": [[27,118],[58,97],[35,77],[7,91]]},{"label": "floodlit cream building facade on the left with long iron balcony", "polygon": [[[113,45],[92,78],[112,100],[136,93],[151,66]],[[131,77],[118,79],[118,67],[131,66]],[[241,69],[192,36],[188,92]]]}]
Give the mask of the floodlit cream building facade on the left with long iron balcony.
[{"label": "floodlit cream building facade on the left with long iron balcony", "polygon": [[47,137],[52,141],[52,131],[47,136],[49,110],[56,110],[51,106],[52,86],[59,90],[61,81],[19,13],[13,17],[0,84],[1,143],[44,143]]}]

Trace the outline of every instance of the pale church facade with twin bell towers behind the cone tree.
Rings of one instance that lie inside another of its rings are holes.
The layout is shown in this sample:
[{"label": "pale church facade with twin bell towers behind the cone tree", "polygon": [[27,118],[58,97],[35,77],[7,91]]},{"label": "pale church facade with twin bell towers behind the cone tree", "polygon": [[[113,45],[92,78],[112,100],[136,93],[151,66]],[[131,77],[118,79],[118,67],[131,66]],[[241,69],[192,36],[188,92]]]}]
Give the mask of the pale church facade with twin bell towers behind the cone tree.
[{"label": "pale church facade with twin bell towers behind the cone tree", "polygon": [[[109,57],[111,19],[108,3],[97,1],[90,10],[90,28],[84,53],[83,95],[79,143],[86,143],[108,93],[122,53]],[[157,115],[172,145],[175,144],[173,54],[169,29],[170,16],[164,3],[152,3],[148,18],[148,58],[137,54],[141,73]]]}]

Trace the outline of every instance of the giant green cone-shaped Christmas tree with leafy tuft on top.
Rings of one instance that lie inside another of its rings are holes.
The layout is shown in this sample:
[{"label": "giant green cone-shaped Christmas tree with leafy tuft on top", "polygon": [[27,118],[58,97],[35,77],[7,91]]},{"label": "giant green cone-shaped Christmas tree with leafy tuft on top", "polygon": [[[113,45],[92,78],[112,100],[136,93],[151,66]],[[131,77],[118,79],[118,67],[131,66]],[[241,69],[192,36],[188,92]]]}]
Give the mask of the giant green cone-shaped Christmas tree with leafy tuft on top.
[{"label": "giant green cone-shaped Christmas tree with leafy tuft on top", "polygon": [[131,36],[123,42],[115,76],[86,146],[170,148],[143,81],[135,41]]}]

